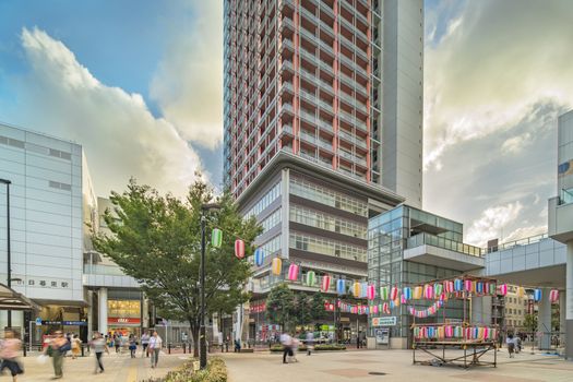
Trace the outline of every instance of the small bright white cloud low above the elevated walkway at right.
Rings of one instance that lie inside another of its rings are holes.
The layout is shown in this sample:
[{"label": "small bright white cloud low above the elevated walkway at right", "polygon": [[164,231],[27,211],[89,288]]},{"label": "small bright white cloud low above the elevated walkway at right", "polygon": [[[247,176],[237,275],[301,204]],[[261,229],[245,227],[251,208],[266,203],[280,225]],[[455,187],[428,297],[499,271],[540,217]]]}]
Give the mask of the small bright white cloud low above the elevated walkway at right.
[{"label": "small bright white cloud low above the elevated walkway at right", "polygon": [[522,210],[523,205],[520,202],[487,208],[471,223],[465,241],[485,247],[488,240],[500,237],[500,231],[513,223]]}]

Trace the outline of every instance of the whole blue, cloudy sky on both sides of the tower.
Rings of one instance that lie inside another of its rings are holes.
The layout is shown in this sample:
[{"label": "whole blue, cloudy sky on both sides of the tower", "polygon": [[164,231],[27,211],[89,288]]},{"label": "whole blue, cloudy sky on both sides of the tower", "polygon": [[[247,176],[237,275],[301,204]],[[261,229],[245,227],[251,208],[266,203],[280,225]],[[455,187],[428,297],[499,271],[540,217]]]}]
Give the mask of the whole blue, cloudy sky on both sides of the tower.
[{"label": "whole blue, cloudy sky on both sides of the tower", "polygon": [[[465,241],[547,230],[573,108],[568,0],[425,2],[423,207]],[[222,183],[223,4],[0,0],[0,121],[84,146],[96,192]]]}]

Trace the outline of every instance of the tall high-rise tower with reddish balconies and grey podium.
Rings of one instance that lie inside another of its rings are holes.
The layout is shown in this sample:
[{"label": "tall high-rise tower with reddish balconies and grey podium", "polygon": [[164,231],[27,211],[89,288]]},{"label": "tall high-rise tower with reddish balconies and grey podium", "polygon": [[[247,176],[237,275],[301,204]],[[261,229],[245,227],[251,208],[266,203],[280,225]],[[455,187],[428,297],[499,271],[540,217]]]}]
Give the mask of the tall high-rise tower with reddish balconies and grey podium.
[{"label": "tall high-rise tower with reddish balconies and grey podium", "polygon": [[[259,321],[282,279],[270,273],[272,256],[299,262],[302,274],[366,279],[368,218],[404,201],[395,190],[421,204],[423,7],[226,0],[224,14],[224,179],[243,215],[262,224],[256,244],[267,255],[252,283],[252,337],[273,324]],[[382,15],[395,19],[393,33]],[[395,64],[383,64],[384,44],[401,55]],[[343,319],[355,335],[366,326]]]}]

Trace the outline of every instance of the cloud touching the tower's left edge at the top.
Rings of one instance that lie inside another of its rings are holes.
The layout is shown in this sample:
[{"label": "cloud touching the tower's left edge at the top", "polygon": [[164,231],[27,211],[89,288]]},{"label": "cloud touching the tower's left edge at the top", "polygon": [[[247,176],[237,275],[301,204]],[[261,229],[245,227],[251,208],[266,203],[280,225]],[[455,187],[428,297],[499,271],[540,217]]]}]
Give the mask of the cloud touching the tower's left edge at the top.
[{"label": "cloud touching the tower's left edge at the top", "polygon": [[196,17],[174,31],[151,96],[187,140],[214,150],[223,141],[223,1],[193,1]]}]

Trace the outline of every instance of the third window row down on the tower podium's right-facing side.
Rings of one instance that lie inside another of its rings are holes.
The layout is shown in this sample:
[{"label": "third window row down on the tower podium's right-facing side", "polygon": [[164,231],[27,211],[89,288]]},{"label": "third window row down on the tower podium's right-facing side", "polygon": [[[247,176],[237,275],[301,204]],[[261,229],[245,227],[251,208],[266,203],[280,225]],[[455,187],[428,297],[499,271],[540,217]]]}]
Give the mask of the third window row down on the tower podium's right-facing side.
[{"label": "third window row down on the tower podium's right-facing side", "polygon": [[290,248],[298,249],[301,251],[309,251],[335,258],[366,262],[365,248],[347,244],[326,238],[319,238],[315,236],[291,232],[289,246]]}]

